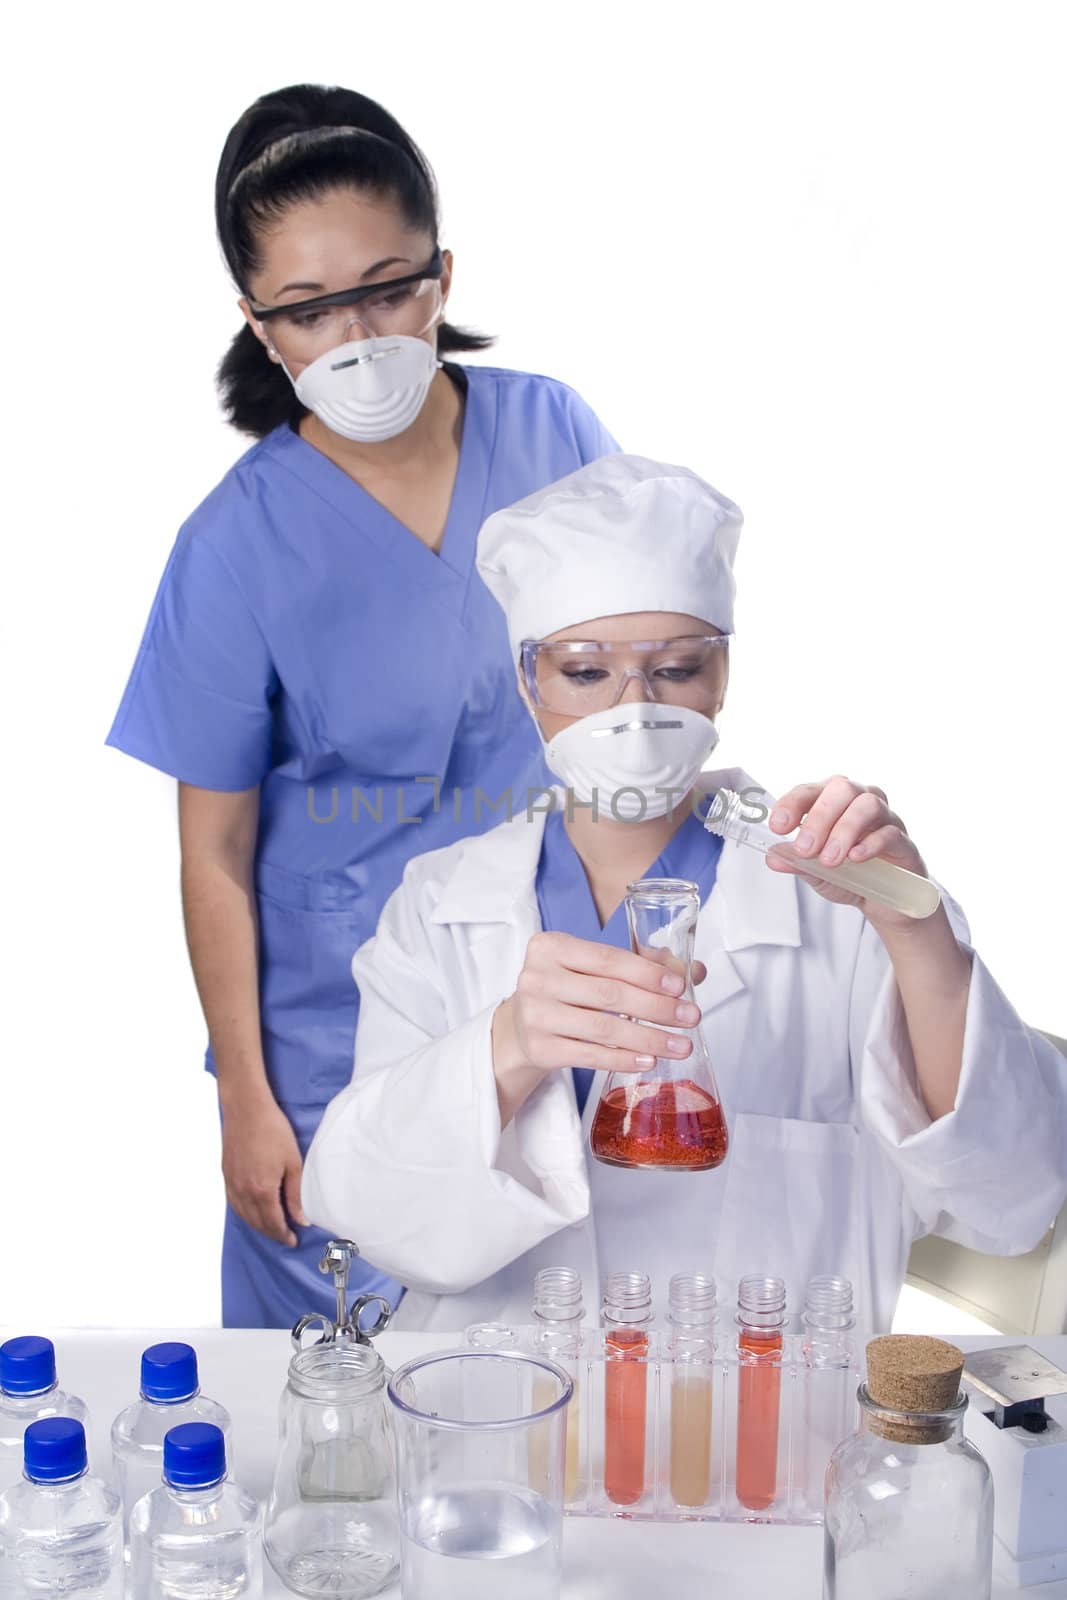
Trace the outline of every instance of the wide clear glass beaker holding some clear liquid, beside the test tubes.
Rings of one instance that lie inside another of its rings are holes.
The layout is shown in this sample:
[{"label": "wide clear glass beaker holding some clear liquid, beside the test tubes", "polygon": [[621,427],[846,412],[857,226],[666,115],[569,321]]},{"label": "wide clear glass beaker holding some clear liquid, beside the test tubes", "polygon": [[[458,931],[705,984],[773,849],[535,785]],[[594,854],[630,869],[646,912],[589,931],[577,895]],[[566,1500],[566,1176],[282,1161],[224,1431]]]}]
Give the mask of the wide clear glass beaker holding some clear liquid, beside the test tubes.
[{"label": "wide clear glass beaker holding some clear liquid, beside the test tubes", "polygon": [[405,1600],[558,1600],[571,1389],[553,1362],[502,1349],[394,1374]]}]

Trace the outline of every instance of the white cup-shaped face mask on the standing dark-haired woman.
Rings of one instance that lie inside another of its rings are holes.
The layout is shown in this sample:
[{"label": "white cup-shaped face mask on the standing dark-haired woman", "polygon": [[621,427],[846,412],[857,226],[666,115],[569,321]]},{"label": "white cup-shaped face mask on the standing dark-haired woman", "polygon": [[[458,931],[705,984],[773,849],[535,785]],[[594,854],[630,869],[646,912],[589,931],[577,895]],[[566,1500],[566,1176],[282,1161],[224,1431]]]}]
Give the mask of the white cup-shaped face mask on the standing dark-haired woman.
[{"label": "white cup-shaped face mask on the standing dark-haired woman", "polygon": [[349,339],[314,360],[299,378],[282,362],[296,398],[334,434],[362,445],[378,445],[411,427],[438,365],[432,344],[405,333]]}]

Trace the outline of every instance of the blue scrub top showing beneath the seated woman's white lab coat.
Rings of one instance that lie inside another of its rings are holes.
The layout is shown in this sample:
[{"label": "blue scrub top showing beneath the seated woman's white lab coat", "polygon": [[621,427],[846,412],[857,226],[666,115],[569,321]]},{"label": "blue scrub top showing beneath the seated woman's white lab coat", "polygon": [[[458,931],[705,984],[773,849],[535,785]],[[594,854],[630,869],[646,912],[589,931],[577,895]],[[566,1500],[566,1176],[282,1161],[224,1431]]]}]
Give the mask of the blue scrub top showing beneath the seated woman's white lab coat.
[{"label": "blue scrub top showing beneath the seated woman's white lab coat", "polygon": [[[715,886],[721,850],[721,838],[709,834],[701,818],[686,811],[678,832],[643,875],[646,878],[688,878],[699,888],[701,904],[705,904]],[[550,811],[545,818],[544,843],[537,862],[537,910],[541,912],[541,926],[547,933],[571,933],[576,939],[613,944],[619,950],[630,949],[625,902],[619,902],[603,928],[600,926],[597,902],[589,888],[585,869],[568,838],[561,811]],[[571,1067],[571,1072],[581,1115],[589,1099],[593,1074],[589,1067]]]}]

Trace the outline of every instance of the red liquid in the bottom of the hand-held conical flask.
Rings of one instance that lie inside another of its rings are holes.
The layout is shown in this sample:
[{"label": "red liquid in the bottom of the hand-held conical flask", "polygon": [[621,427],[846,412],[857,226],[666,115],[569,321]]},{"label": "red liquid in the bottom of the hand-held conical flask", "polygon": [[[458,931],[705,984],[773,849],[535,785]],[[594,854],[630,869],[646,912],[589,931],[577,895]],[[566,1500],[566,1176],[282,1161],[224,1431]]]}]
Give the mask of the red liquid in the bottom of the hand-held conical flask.
[{"label": "red liquid in the bottom of the hand-held conical flask", "polygon": [[608,1166],[702,1173],[726,1158],[718,1101],[691,1078],[621,1083],[597,1107],[589,1146]]}]

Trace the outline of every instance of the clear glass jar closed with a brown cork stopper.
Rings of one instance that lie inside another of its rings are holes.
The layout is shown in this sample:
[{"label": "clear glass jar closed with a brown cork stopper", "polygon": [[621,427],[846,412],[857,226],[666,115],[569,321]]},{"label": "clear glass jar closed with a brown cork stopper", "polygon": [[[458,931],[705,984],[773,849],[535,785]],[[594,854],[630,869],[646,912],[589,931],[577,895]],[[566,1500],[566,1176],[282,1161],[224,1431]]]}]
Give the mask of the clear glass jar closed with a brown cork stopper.
[{"label": "clear glass jar closed with a brown cork stopper", "polygon": [[942,1339],[867,1346],[859,1432],[827,1469],[824,1600],[990,1600],[993,1485],[963,1437],[961,1374]]}]

